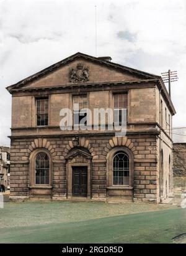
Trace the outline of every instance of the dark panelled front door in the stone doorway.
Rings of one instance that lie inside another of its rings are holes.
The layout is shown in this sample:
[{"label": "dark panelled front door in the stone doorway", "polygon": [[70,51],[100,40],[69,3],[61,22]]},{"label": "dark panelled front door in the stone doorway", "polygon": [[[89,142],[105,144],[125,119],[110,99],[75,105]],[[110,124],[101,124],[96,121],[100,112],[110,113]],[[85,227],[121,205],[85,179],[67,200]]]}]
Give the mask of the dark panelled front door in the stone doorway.
[{"label": "dark panelled front door in the stone doorway", "polygon": [[73,166],[73,196],[87,197],[86,166]]}]

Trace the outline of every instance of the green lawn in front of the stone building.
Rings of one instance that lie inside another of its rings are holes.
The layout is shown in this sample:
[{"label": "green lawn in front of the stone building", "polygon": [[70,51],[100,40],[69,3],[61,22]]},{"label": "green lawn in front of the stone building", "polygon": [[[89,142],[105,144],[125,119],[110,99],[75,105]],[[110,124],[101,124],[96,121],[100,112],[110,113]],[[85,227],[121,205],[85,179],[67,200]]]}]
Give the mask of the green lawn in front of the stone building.
[{"label": "green lawn in front of the stone building", "polygon": [[0,209],[1,243],[171,243],[186,209],[153,204],[24,202]]}]

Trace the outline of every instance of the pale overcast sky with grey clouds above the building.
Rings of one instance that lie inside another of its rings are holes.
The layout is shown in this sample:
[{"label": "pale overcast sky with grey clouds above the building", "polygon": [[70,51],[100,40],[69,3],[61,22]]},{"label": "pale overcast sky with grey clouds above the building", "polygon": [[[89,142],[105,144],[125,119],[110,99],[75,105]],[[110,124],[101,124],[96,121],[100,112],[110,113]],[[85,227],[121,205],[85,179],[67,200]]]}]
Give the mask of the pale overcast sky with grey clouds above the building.
[{"label": "pale overcast sky with grey clouds above the building", "polygon": [[0,145],[8,145],[11,95],[5,87],[76,52],[160,75],[172,84],[174,126],[186,126],[185,0],[0,0]]}]

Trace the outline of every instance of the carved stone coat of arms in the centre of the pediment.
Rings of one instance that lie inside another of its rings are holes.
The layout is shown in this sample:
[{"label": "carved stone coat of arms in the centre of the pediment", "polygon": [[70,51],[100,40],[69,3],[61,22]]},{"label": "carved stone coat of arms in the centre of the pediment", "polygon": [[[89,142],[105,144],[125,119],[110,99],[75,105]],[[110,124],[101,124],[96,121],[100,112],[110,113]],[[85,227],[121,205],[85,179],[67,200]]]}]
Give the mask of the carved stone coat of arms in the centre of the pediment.
[{"label": "carved stone coat of arms in the centre of the pediment", "polygon": [[69,72],[69,81],[76,82],[87,82],[89,80],[89,68],[79,63],[76,69],[71,69]]}]

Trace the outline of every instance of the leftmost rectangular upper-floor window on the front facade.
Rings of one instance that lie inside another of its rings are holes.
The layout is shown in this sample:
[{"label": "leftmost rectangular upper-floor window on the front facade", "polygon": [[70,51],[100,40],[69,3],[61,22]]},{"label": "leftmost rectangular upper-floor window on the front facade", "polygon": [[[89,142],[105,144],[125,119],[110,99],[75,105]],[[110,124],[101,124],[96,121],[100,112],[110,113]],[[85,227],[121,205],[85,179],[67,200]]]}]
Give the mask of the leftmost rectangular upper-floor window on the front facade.
[{"label": "leftmost rectangular upper-floor window on the front facade", "polygon": [[48,98],[37,98],[36,106],[37,126],[48,125]]}]

